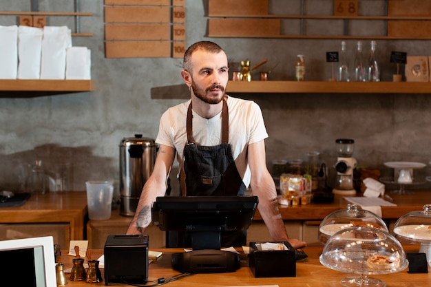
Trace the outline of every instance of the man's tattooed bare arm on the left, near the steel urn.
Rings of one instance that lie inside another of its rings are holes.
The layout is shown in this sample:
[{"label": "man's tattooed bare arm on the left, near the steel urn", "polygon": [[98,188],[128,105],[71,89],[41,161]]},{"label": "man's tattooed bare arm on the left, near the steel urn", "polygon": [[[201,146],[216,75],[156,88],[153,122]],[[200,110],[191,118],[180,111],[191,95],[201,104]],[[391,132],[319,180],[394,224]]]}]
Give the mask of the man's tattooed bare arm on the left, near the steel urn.
[{"label": "man's tattooed bare arm on the left, near the steel urn", "polygon": [[175,149],[160,145],[153,172],[140,195],[136,213],[127,228],[127,234],[143,234],[151,224],[151,206],[158,196],[165,196],[167,177],[174,163]]}]

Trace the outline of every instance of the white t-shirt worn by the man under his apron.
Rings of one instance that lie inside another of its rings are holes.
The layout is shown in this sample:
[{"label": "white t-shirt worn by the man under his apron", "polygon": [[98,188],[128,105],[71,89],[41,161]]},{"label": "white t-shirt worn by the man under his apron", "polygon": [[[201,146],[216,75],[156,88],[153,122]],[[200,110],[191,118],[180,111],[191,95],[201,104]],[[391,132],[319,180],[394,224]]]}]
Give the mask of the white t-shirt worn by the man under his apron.
[{"label": "white t-shirt worn by the man under his apron", "polygon": [[[156,143],[174,147],[182,166],[182,153],[187,142],[187,109],[191,100],[170,107],[160,118]],[[229,108],[229,144],[233,159],[245,186],[250,184],[247,146],[268,138],[260,107],[252,100],[227,97]],[[192,110],[193,138],[197,145],[215,146],[221,143],[222,112],[213,118],[202,118]]]}]

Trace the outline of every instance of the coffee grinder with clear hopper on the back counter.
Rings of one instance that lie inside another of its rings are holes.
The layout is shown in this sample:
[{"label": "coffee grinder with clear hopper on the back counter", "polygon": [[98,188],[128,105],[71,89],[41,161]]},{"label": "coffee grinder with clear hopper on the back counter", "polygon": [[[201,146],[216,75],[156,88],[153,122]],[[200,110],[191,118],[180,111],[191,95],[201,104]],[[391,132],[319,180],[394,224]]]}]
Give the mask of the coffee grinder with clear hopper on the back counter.
[{"label": "coffee grinder with clear hopper on the back counter", "polygon": [[355,140],[350,138],[339,138],[335,140],[337,144],[337,163],[335,170],[337,178],[335,180],[335,188],[333,193],[341,195],[356,195],[354,188],[353,171],[355,171],[357,161],[353,158],[353,149],[355,148]]}]

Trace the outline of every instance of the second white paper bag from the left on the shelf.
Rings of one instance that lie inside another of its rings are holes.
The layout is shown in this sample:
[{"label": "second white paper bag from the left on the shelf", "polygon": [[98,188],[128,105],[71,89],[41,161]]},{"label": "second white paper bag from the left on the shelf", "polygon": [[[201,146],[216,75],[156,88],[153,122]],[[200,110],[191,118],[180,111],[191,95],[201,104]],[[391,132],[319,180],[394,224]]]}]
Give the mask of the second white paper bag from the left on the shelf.
[{"label": "second white paper bag from the left on the shelf", "polygon": [[18,78],[39,79],[41,76],[41,50],[43,30],[19,26]]}]

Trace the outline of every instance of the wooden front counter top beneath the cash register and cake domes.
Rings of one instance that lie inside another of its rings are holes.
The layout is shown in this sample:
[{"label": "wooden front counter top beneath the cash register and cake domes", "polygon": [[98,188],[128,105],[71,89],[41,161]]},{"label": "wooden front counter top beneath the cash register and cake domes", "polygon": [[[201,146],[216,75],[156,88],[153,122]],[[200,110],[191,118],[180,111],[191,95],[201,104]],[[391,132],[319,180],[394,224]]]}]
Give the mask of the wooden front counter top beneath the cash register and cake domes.
[{"label": "wooden front counter top beneath the cash register and cake domes", "polygon": [[[406,245],[406,253],[417,253],[419,246]],[[304,262],[297,262],[296,277],[271,277],[271,278],[255,278],[249,268],[248,257],[242,254],[241,268],[233,273],[216,273],[216,274],[196,274],[185,277],[175,281],[175,283],[167,284],[166,286],[268,286],[278,285],[280,287],[334,287],[341,286],[340,280],[346,276],[356,276],[353,274],[342,273],[339,271],[331,270],[324,267],[319,262],[319,255],[322,253],[322,246],[310,246],[304,249],[308,254],[308,258]],[[151,251],[162,251],[164,254],[157,262],[149,264],[149,280],[157,280],[159,278],[167,278],[169,276],[177,275],[176,270],[171,269],[171,253],[182,252],[180,249],[151,249]],[[98,258],[102,255],[103,250],[92,251],[92,257]],[[65,255],[67,251],[63,252],[61,262],[65,264],[65,268],[72,267],[72,256]],[[87,262],[87,258],[85,258]],[[92,286],[104,286],[105,277],[103,274],[103,282],[92,284]],[[400,271],[399,273],[391,273],[387,275],[372,275],[386,282],[390,287],[425,287],[429,286],[431,282],[431,273],[427,274],[409,274],[408,268]],[[69,279],[69,274],[66,274]],[[82,286],[88,287],[89,284],[84,281],[70,281],[67,286]],[[115,284],[109,282],[109,286],[125,286],[124,284]]]}]

